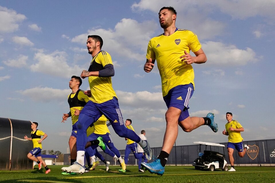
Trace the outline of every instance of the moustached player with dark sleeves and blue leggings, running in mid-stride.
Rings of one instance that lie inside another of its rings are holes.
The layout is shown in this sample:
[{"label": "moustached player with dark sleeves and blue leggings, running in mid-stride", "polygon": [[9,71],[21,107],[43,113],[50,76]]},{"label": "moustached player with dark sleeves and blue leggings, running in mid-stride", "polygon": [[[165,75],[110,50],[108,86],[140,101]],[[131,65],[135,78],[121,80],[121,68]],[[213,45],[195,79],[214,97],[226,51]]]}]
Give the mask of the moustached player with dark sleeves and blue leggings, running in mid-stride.
[{"label": "moustached player with dark sleeves and blue leggings, running in mid-stride", "polygon": [[87,39],[87,49],[93,60],[88,71],[83,70],[81,77],[88,77],[90,90],[86,93],[90,96],[89,102],[82,109],[77,127],[77,157],[76,163],[65,168],[68,172],[85,172],[84,154],[87,142],[87,128],[104,115],[112,124],[113,129],[120,137],[129,138],[140,144],[144,148],[148,160],[152,158],[152,151],[147,141],[141,140],[135,132],[127,129],[123,125],[123,118],[119,109],[117,96],[112,87],[111,77],[115,70],[111,56],[106,51],[101,50],[103,40],[98,35],[89,35]]}]

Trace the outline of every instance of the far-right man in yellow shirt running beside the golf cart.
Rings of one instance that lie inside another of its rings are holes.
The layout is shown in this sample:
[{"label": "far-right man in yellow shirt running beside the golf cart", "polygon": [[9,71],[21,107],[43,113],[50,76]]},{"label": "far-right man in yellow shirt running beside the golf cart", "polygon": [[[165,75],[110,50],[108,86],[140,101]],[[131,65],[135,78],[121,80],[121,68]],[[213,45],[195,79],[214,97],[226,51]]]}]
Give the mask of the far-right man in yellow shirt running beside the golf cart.
[{"label": "far-right man in yellow shirt running beside the golf cart", "polygon": [[231,112],[226,113],[226,120],[227,123],[225,124],[225,129],[223,130],[224,135],[228,135],[228,143],[227,143],[227,151],[228,151],[228,157],[229,162],[231,165],[229,172],[235,172],[234,167],[234,158],[233,158],[233,152],[234,149],[237,149],[239,157],[243,157],[246,153],[246,150],[249,149],[249,147],[244,144],[243,148],[243,138],[241,137],[241,132],[244,131],[243,127],[237,120],[232,120],[233,115]]}]

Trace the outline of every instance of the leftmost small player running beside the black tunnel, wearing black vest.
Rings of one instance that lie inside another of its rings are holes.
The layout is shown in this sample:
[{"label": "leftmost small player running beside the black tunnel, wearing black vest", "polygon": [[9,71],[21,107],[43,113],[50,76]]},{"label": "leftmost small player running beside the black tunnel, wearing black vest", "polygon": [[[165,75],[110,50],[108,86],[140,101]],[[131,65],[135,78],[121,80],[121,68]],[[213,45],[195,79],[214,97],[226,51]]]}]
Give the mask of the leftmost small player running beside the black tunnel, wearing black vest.
[{"label": "leftmost small player running beside the black tunnel, wearing black vest", "polygon": [[[45,174],[48,174],[51,171],[51,169],[48,168],[48,166],[46,165],[44,160],[42,160],[42,157],[41,157],[41,150],[42,150],[41,143],[45,138],[48,137],[48,135],[42,132],[41,130],[36,129],[37,126],[38,126],[38,123],[36,122],[32,123],[31,138],[28,138],[26,135],[24,136],[25,140],[32,140],[32,143],[34,144],[34,149],[29,152],[28,158],[38,163],[39,170],[41,169],[41,165],[43,165],[44,168],[46,169]],[[43,136],[43,138],[41,138],[41,136]]]}]

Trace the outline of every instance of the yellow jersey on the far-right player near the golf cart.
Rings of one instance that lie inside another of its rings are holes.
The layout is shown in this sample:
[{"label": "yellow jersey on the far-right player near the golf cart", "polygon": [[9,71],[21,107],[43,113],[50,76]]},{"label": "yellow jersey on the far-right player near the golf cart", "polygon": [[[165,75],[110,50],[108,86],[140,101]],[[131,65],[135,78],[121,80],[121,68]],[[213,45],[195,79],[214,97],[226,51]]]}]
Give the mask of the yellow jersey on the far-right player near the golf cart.
[{"label": "yellow jersey on the far-right player near the golf cart", "polygon": [[228,132],[228,142],[239,143],[243,141],[241,132],[231,131],[229,128],[242,128],[241,124],[237,120],[232,120],[230,123],[225,124],[226,132]]}]

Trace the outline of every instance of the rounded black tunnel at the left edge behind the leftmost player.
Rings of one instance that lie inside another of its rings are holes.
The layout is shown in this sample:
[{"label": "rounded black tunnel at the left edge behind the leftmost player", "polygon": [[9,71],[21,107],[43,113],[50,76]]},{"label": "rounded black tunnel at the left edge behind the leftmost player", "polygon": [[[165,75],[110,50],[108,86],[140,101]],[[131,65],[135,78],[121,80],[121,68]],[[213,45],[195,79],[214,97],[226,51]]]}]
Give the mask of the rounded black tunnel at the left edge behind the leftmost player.
[{"label": "rounded black tunnel at the left edge behind the leftmost player", "polygon": [[30,137],[31,121],[0,118],[0,170],[33,169],[27,154],[33,149]]}]

